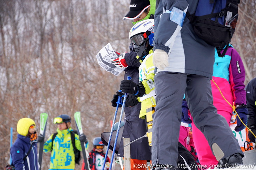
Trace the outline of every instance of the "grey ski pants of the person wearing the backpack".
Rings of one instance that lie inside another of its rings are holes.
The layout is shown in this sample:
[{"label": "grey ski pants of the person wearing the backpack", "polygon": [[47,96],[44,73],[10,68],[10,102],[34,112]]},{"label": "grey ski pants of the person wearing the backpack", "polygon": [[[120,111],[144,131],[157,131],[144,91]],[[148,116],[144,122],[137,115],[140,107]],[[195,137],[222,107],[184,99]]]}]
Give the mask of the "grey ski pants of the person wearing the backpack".
[{"label": "grey ski pants of the person wearing the backpack", "polygon": [[186,95],[196,127],[206,137],[213,154],[222,158],[243,152],[227,120],[213,105],[210,78],[195,74],[159,72],[155,75],[156,111],[153,114],[152,163],[177,167],[181,105]]}]

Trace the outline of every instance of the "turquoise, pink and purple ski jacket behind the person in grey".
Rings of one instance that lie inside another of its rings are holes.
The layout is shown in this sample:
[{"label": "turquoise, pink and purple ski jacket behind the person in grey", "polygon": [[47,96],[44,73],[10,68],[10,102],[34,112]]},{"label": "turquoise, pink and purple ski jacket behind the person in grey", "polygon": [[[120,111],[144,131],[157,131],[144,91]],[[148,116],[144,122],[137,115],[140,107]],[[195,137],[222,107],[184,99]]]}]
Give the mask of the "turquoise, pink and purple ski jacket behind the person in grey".
[{"label": "turquoise, pink and purple ski jacket behind the person in grey", "polygon": [[[245,70],[238,52],[229,44],[224,57],[218,57],[215,52],[213,80],[220,88],[223,96],[232,105],[246,104],[246,92],[244,90]],[[232,114],[232,108],[223,99],[216,85],[211,81],[213,102],[217,110],[228,111]]]}]

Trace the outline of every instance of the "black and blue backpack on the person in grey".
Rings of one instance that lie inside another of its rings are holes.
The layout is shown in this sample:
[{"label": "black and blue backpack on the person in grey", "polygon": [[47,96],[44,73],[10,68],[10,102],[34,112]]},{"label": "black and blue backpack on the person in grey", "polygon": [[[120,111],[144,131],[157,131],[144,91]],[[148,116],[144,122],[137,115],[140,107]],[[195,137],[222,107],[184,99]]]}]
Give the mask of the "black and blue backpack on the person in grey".
[{"label": "black and blue backpack on the person in grey", "polygon": [[195,13],[186,14],[195,33],[215,46],[219,57],[225,55],[235,32],[238,3],[240,0],[198,0]]}]

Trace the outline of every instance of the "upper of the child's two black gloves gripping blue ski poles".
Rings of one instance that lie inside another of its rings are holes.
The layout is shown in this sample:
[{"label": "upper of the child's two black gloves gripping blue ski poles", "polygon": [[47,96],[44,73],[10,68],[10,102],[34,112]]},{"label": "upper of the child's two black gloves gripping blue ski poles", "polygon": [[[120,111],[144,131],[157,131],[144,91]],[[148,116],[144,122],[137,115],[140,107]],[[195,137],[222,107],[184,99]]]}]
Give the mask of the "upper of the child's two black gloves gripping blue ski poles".
[{"label": "upper of the child's two black gloves gripping blue ski poles", "polygon": [[122,80],[120,90],[122,90],[123,93],[129,93],[139,97],[145,94],[144,86],[141,83],[136,84],[132,80]]}]

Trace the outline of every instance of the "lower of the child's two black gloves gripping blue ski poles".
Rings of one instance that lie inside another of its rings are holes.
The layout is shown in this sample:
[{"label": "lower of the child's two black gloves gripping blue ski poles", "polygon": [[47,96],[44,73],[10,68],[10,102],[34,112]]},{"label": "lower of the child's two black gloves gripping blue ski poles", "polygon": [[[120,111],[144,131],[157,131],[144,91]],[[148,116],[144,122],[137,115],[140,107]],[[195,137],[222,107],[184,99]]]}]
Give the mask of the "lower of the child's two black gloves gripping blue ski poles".
[{"label": "lower of the child's two black gloves gripping blue ski poles", "polygon": [[[122,98],[121,103],[123,103],[123,96],[124,96],[124,94],[122,92],[120,92],[120,91],[117,91],[116,95],[113,96],[113,99],[111,101],[113,107],[117,106],[116,102],[117,102],[117,99],[118,99],[119,96]],[[131,95],[131,94],[127,94],[124,106],[125,107],[133,107],[133,106],[135,106],[138,103],[139,103],[139,101],[137,100],[137,96],[134,96],[134,95]],[[121,108],[122,104],[119,104],[118,107]]]}]

